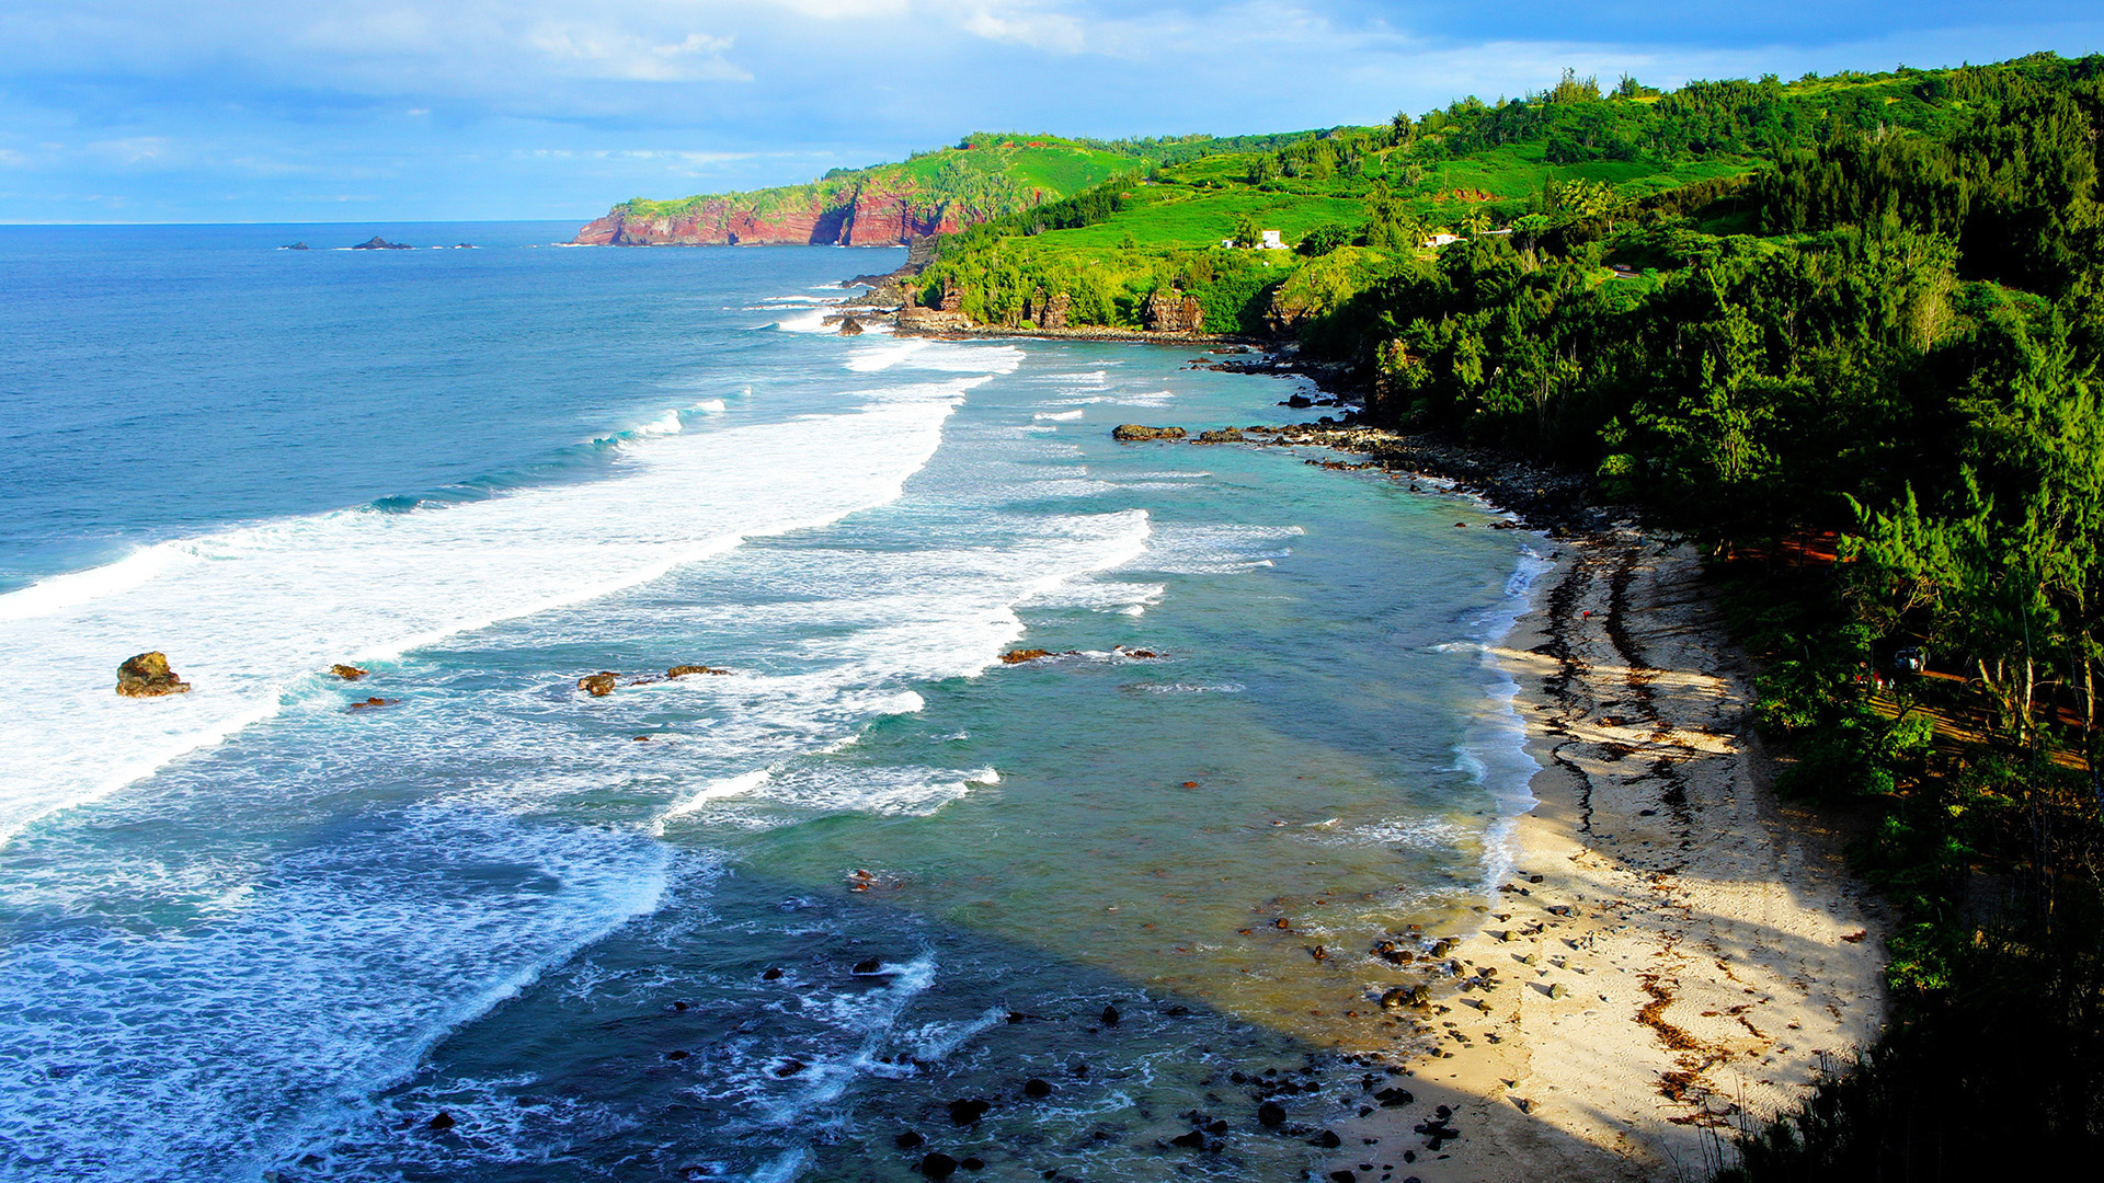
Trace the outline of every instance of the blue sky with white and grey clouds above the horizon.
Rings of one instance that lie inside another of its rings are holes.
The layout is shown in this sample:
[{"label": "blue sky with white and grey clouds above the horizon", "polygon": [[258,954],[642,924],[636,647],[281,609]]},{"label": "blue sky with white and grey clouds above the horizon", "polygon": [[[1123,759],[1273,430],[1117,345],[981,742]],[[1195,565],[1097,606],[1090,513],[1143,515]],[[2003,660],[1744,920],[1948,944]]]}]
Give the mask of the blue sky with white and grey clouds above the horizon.
[{"label": "blue sky with white and grey clouds above the horizon", "polygon": [[585,221],[972,131],[2100,48],[2096,0],[0,0],[0,221]]}]

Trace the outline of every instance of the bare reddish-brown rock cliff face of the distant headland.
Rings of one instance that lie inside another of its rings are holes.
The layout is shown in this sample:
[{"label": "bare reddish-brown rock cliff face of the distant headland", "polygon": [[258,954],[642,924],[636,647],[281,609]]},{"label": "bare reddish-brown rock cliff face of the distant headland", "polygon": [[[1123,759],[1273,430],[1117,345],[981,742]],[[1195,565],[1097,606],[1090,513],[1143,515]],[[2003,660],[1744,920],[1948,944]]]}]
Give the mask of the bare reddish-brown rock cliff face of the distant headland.
[{"label": "bare reddish-brown rock cliff face of the distant headland", "polygon": [[856,185],[839,194],[770,202],[760,210],[739,196],[709,198],[677,215],[614,206],[576,232],[583,246],[898,246],[970,225],[951,202],[928,202],[911,189]]}]

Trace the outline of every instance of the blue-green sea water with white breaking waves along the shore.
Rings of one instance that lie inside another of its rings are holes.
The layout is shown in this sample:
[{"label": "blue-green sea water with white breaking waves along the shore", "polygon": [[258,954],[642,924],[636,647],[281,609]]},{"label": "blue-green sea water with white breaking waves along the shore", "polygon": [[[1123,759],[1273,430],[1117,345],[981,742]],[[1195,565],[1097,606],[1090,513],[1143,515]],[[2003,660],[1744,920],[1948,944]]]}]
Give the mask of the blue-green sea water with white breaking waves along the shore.
[{"label": "blue-green sea water with white breaking waves along the shore", "polygon": [[1504,869],[1538,539],[1109,436],[1296,379],[833,333],[896,250],[566,234],[0,229],[0,1179],[1313,1164],[1229,1074]]}]

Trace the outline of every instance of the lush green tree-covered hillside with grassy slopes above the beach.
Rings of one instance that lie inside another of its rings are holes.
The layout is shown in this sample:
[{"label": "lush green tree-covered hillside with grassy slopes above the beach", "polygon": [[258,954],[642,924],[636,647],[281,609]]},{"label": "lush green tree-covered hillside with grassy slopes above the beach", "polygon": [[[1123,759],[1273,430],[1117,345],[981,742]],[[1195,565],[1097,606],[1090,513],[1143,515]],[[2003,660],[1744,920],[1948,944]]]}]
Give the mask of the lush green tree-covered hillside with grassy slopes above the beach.
[{"label": "lush green tree-covered hillside with grassy slopes above the beach", "polygon": [[[1955,1179],[2104,1149],[2100,131],[2104,57],[1565,74],[1161,156],[947,240],[924,282],[1010,324],[1182,288],[1347,366],[1378,425],[1584,472],[1698,541],[1784,789],[1860,827],[1906,916],[1889,1034],[1727,1175]],[[1269,227],[1298,250],[1250,250]]]}]

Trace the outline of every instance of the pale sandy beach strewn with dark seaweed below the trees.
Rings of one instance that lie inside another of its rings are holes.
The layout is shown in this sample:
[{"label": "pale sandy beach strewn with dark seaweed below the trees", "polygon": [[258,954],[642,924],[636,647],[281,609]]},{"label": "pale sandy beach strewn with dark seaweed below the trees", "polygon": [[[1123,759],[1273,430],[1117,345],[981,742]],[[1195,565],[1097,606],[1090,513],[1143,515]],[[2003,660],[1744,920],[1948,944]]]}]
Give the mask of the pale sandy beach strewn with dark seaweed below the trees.
[{"label": "pale sandy beach strewn with dark seaweed below the trees", "polygon": [[1414,1103],[1340,1126],[1332,1179],[1704,1179],[1883,1021],[1885,914],[1769,791],[1694,552],[1567,541],[1544,587],[1498,655],[1540,804],[1458,989],[1405,1010]]}]

